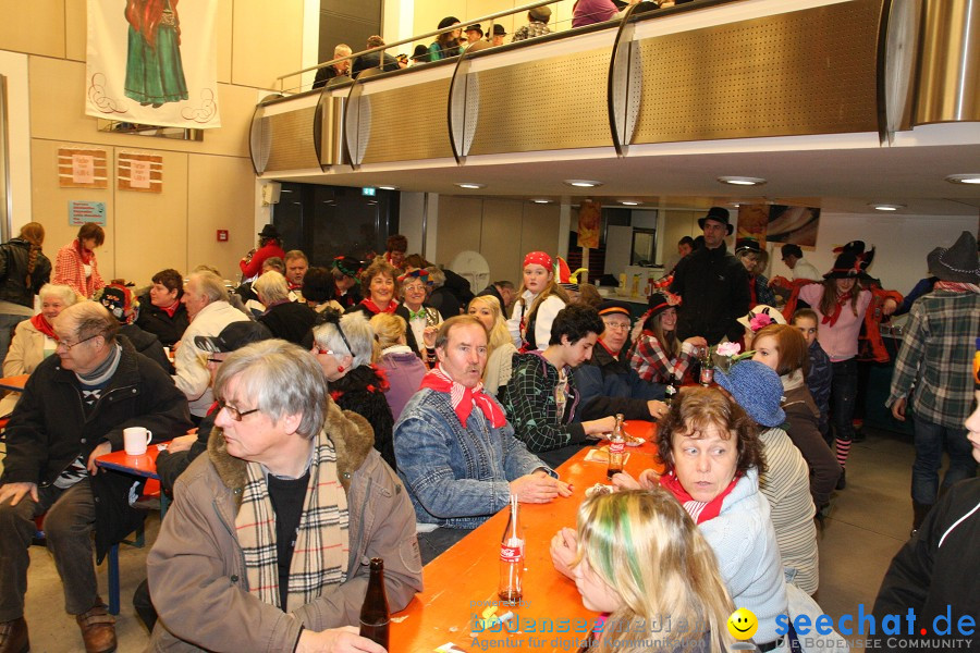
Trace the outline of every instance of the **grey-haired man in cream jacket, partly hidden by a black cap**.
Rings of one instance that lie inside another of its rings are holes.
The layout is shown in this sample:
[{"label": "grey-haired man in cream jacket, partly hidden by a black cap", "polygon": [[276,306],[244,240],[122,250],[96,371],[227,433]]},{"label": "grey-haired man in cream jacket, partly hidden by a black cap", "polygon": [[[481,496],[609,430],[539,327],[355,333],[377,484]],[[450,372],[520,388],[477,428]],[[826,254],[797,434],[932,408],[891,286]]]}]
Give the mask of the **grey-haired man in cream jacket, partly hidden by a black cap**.
[{"label": "grey-haired man in cream jacket, partly hidden by a black cap", "polygon": [[187,307],[191,325],[184,331],[173,365],[174,383],[191,403],[191,416],[195,423],[208,414],[215,403],[211,396],[211,375],[205,367],[205,352],[194,344],[198,335],[218,335],[232,322],[248,318],[228,303],[228,291],[221,279],[212,272],[194,272],[187,278],[181,301]]}]

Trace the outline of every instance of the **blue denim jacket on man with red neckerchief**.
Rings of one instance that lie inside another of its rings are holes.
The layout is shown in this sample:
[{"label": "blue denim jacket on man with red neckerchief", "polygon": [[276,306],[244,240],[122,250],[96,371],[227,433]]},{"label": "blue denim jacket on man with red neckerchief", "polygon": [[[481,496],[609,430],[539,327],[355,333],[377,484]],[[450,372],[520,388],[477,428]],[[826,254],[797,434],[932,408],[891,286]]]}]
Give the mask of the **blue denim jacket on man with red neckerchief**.
[{"label": "blue denim jacket on man with red neckerchief", "polygon": [[536,469],[556,476],[514,436],[510,423],[493,429],[474,408],[464,429],[450,395],[431,389],[408,401],[394,428],[394,446],[399,476],[422,523],[476,528],[507,505],[514,479]]}]

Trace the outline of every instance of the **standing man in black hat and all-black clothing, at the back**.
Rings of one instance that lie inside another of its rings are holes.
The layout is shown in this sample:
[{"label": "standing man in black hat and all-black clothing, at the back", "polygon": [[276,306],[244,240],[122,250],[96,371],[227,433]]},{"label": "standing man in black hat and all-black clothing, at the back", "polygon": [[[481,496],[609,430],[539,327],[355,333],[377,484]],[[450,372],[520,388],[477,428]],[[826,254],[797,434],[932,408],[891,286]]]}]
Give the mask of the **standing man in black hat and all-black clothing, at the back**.
[{"label": "standing man in black hat and all-black clothing, at the back", "polygon": [[743,334],[736,320],[748,312],[750,296],[748,272],[725,248],[725,236],[733,231],[728,211],[711,207],[698,226],[705,232],[705,246],[677,263],[670,287],[684,298],[677,337],[700,335],[710,345],[724,337],[735,342]]}]

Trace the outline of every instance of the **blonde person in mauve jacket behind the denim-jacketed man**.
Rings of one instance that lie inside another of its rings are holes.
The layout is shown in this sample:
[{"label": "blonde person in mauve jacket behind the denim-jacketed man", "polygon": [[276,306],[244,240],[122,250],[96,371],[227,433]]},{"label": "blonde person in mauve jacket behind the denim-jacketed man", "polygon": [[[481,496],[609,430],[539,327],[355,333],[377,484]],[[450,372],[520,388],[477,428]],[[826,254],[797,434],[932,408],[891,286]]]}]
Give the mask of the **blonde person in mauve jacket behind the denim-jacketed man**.
[{"label": "blonde person in mauve jacket behind the denim-jacketed man", "polygon": [[392,418],[399,421],[405,404],[416,393],[422,377],[426,375],[426,364],[407,344],[408,326],[405,318],[392,313],[378,313],[370,319],[370,323],[381,348],[377,366],[388,378],[384,398],[391,408]]}]

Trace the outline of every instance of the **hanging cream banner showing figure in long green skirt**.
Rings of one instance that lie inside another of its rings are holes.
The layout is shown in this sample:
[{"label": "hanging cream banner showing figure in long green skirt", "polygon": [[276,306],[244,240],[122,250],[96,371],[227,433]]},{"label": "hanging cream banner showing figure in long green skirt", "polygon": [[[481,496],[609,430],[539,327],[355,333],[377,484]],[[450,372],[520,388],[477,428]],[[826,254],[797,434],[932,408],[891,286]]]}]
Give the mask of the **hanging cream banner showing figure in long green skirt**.
[{"label": "hanging cream banner showing figure in long green skirt", "polygon": [[185,130],[220,127],[217,5],[126,0],[123,8],[120,0],[88,0],[85,113]]}]

